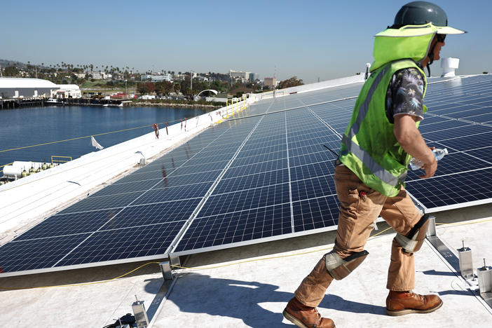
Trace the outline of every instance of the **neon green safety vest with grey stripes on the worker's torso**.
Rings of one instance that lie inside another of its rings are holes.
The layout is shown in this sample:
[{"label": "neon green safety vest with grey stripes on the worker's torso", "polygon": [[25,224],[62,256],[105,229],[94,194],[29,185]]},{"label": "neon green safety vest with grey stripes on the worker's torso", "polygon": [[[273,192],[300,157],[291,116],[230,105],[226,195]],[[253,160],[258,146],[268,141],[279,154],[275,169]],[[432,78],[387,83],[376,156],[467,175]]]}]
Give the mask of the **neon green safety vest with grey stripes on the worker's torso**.
[{"label": "neon green safety vest with grey stripes on the worker's torso", "polygon": [[364,184],[388,197],[396,196],[400,186],[404,186],[411,156],[393,133],[393,124],[385,113],[385,97],[393,74],[409,67],[425,77],[414,60],[397,60],[372,72],[360,91],[341,141],[341,162]]}]

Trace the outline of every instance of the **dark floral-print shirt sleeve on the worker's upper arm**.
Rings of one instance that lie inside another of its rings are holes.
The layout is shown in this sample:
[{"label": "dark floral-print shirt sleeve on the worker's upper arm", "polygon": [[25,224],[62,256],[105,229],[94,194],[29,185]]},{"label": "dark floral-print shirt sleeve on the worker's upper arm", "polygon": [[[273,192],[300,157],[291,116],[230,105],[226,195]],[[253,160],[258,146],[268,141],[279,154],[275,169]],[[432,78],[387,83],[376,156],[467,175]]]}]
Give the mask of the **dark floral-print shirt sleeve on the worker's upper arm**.
[{"label": "dark floral-print shirt sleeve on the worker's upper arm", "polygon": [[395,123],[393,116],[409,114],[423,119],[423,90],[425,78],[416,68],[400,69],[391,77],[386,92],[386,116]]}]

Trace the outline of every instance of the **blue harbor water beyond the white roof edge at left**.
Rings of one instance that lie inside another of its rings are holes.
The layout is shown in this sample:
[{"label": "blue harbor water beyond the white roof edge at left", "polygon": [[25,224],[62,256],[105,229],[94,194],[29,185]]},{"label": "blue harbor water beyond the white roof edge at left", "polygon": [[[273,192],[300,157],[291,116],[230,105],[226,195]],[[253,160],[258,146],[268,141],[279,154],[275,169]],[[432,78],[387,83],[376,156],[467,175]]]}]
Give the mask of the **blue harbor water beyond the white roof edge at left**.
[{"label": "blue harbor water beyond the white roof edge at left", "polygon": [[[162,137],[165,135],[163,123],[172,125],[185,117],[192,118],[203,113],[205,111],[202,109],[167,107],[64,106],[0,110],[0,165],[14,160],[50,162],[51,156],[75,159],[96,151],[90,144],[90,135],[95,135],[102,146],[109,147],[153,132],[153,123],[159,124]],[[131,128],[135,129],[99,135]],[[78,137],[84,138],[74,139]],[[64,139],[74,140],[57,142]],[[50,142],[57,143],[46,144]],[[26,147],[37,144],[45,145]],[[16,150],[6,151],[8,149]]]}]

